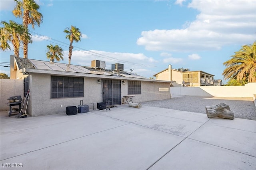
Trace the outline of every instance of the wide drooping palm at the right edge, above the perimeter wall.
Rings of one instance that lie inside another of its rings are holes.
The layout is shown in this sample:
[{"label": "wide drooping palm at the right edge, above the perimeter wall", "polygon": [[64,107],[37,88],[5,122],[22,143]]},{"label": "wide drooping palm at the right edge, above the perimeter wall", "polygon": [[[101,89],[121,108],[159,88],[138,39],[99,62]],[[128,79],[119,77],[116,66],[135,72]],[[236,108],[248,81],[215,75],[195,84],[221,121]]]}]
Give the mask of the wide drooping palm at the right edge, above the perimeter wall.
[{"label": "wide drooping palm at the right edge, above the perimeter wall", "polygon": [[236,79],[240,83],[256,82],[256,42],[252,45],[243,45],[239,51],[231,56],[232,59],[223,63],[226,66],[222,75],[224,79]]}]

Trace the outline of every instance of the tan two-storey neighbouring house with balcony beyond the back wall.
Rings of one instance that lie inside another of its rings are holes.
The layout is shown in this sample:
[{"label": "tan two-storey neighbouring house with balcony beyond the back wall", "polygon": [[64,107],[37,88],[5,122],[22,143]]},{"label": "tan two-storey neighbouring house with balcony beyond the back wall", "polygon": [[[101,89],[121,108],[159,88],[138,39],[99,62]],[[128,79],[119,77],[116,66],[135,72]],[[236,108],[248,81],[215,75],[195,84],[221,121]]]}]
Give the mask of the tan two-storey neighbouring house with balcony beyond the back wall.
[{"label": "tan two-storey neighbouring house with balcony beyond the back wall", "polygon": [[172,69],[169,65],[167,69],[153,75],[156,80],[171,81],[171,86],[213,86],[214,75],[204,71],[190,71],[190,69]]}]

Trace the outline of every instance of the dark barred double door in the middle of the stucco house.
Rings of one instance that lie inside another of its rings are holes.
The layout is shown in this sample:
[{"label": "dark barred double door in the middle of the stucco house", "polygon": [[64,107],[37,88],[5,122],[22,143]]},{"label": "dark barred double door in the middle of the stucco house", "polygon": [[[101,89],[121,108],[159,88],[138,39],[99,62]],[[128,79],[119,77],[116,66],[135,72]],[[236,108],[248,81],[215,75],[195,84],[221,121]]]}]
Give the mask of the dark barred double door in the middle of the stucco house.
[{"label": "dark barred double door in the middle of the stucco house", "polygon": [[121,105],[121,80],[102,80],[102,102],[107,105]]}]

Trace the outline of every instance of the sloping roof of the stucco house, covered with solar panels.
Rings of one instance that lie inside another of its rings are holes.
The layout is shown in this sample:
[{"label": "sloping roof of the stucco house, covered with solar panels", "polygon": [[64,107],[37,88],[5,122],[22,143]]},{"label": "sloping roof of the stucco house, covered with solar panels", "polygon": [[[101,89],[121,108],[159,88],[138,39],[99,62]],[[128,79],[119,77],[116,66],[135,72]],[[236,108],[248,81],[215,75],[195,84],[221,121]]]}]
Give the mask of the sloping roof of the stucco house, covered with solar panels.
[{"label": "sloping roof of the stucco house, covered with solar panels", "polygon": [[[85,77],[106,77],[120,79],[147,79],[141,75],[134,74],[132,72],[126,71],[113,71],[109,69],[95,69],[88,66],[72,65],[65,63],[51,63],[50,61],[42,61],[36,59],[25,59],[25,58],[14,58],[14,63],[16,63],[20,73],[30,72],[30,73],[48,73],[55,75],[78,75]],[[78,73],[78,74],[77,74]],[[155,80],[156,81],[156,80]]]}]

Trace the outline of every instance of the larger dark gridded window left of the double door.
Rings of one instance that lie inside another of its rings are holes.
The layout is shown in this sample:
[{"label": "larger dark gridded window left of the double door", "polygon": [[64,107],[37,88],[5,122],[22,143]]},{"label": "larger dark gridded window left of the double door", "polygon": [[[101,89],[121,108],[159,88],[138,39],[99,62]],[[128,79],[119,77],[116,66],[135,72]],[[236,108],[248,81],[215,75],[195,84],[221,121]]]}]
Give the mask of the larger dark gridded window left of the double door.
[{"label": "larger dark gridded window left of the double door", "polygon": [[83,77],[51,76],[51,98],[84,97]]}]

